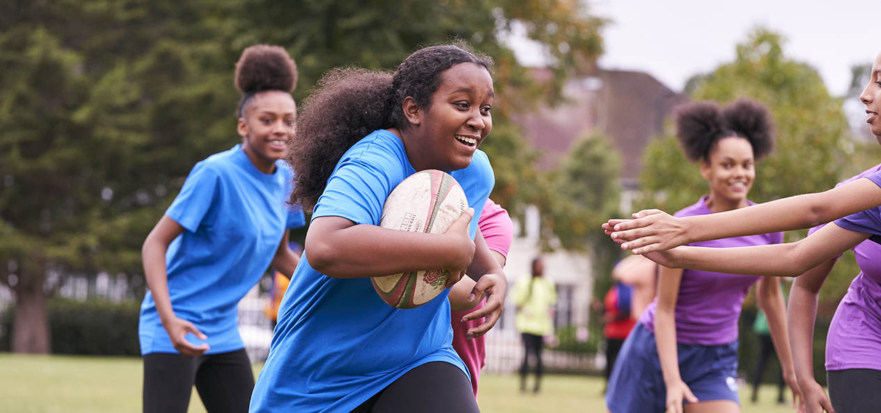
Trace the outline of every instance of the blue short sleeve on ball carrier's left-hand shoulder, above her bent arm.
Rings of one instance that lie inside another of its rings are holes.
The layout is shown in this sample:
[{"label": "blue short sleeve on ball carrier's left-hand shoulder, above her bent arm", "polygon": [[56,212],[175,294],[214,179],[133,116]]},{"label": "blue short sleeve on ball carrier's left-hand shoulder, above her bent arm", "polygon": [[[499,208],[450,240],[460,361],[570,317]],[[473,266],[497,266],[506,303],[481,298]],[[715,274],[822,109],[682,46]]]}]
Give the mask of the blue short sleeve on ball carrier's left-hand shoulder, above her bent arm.
[{"label": "blue short sleeve on ball carrier's left-hand shoulder, above her bent arm", "polygon": [[381,166],[346,159],[330,175],[312,218],[342,217],[355,224],[379,225],[391,189],[389,173]]}]

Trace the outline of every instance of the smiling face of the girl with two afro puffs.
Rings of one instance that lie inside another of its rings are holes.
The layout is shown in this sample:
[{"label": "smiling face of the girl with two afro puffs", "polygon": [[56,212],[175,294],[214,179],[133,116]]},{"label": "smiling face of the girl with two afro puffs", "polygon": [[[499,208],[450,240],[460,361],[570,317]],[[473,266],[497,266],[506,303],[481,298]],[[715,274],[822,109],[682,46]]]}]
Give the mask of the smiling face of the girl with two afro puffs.
[{"label": "smiling face of the girl with two afro puffs", "polygon": [[746,206],[746,195],[756,178],[750,141],[740,136],[719,139],[709,161],[701,162],[700,174],[710,184],[708,203],[714,212]]}]

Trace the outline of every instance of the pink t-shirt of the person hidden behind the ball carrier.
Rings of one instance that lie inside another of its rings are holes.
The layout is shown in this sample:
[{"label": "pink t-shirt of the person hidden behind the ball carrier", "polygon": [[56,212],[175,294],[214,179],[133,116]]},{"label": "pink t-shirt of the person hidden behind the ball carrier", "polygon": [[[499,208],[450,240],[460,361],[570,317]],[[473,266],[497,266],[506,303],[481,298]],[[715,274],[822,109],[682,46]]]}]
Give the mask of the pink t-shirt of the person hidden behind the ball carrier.
[{"label": "pink t-shirt of the person hidden behind the ball carrier", "polygon": [[[486,247],[507,258],[507,250],[511,248],[511,239],[514,237],[514,225],[511,223],[511,218],[507,216],[507,210],[487,199],[484,210],[480,214],[478,228],[484,236]],[[478,396],[480,369],[486,364],[486,338],[478,336],[468,340],[465,338],[465,333],[469,328],[478,327],[484,322],[484,319],[466,322],[461,320],[465,314],[477,311],[484,304],[485,300],[470,310],[454,311],[450,314],[453,326],[453,349],[468,366],[468,371],[471,373],[471,388],[474,389],[475,397]]]}]

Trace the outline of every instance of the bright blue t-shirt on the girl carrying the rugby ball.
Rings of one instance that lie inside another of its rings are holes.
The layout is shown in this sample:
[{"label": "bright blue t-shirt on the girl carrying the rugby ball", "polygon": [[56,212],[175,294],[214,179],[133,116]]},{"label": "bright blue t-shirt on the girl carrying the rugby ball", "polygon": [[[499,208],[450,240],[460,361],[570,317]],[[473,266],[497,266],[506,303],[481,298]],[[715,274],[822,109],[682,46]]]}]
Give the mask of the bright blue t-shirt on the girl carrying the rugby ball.
[{"label": "bright blue t-shirt on the girl carrying the rugby ball", "polygon": [[[374,131],[337,163],[313,218],[379,225],[389,193],[413,173],[401,139]],[[450,174],[479,217],[495,180],[485,153],[477,151],[470,166]],[[477,229],[478,219],[472,219],[472,238]],[[403,373],[433,361],[456,365],[468,376],[451,344],[448,291],[423,306],[399,310],[382,301],[369,278],[327,277],[309,266],[308,254],[278,309],[252,413],[349,412]]]}]

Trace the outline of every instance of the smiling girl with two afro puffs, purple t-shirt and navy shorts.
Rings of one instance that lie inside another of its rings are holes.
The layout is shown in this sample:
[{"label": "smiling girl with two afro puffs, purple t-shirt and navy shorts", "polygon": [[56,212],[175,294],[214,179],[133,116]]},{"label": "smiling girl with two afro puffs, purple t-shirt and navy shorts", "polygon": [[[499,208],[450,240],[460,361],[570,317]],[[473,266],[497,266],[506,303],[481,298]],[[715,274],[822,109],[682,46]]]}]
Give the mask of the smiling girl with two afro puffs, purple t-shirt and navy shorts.
[{"label": "smiling girl with two afro puffs, purple t-shirt and navy shorts", "polygon": [[[720,108],[713,102],[679,107],[677,137],[686,158],[700,164],[709,194],[676,213],[707,215],[750,206],[756,160],[774,147],[766,107],[737,100]],[[778,244],[782,233],[702,242],[702,247]],[[775,277],[660,267],[655,301],[640,316],[611,372],[606,404],[614,413],[738,412],[737,321],[746,293],[758,284],[784,378],[797,394],[786,335],[786,312]]]}]

